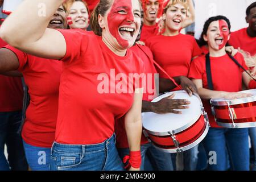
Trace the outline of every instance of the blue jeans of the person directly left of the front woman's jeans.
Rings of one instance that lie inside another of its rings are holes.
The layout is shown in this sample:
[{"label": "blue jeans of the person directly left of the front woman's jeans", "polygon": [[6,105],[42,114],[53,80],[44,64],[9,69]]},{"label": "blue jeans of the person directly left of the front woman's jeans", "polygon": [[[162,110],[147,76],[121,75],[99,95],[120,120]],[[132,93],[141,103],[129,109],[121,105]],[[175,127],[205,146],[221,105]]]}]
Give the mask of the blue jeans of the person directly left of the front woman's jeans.
[{"label": "blue jeans of the person directly left of the front woman's jeans", "polygon": [[51,148],[35,147],[23,140],[23,146],[32,171],[49,171],[51,160]]}]

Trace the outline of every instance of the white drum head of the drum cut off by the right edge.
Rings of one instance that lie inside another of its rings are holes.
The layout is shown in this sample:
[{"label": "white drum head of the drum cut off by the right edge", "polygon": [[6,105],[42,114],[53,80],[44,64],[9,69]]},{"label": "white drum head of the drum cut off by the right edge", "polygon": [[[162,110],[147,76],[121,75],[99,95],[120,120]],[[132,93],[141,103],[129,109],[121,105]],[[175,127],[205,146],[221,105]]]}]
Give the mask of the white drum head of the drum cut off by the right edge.
[{"label": "white drum head of the drum cut off by the right edge", "polygon": [[225,98],[218,98],[218,99],[212,99],[212,105],[214,106],[226,106],[228,105],[237,105],[237,104],[244,104],[248,102],[254,102],[256,101],[256,89],[251,89],[251,90],[243,90],[241,93],[251,93],[253,96],[251,97],[246,97],[246,98],[237,98],[235,100],[227,100]]}]

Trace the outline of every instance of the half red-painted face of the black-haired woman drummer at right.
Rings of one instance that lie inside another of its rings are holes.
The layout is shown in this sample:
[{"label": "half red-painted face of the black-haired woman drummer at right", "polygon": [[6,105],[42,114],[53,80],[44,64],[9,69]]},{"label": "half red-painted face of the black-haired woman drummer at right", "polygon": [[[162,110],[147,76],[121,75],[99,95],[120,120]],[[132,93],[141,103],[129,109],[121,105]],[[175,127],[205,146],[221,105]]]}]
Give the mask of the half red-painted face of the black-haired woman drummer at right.
[{"label": "half red-painted face of the black-haired woman drummer at right", "polygon": [[207,31],[208,46],[214,50],[220,50],[226,46],[229,40],[229,27],[225,20],[217,20],[210,23]]}]

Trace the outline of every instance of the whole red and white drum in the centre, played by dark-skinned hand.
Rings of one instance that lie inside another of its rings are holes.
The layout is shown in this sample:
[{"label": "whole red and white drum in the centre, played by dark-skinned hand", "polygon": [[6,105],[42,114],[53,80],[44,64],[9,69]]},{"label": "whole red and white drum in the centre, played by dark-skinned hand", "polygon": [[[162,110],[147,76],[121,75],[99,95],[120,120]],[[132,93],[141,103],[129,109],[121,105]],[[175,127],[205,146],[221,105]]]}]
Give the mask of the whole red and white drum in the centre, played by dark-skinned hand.
[{"label": "whole red and white drum in the centre, played by dark-skinned hand", "polygon": [[209,120],[200,97],[192,97],[184,90],[170,92],[155,98],[158,102],[175,93],[174,99],[191,101],[189,109],[182,114],[142,113],[143,133],[156,148],[163,152],[176,153],[195,147],[204,139],[209,130]]}]

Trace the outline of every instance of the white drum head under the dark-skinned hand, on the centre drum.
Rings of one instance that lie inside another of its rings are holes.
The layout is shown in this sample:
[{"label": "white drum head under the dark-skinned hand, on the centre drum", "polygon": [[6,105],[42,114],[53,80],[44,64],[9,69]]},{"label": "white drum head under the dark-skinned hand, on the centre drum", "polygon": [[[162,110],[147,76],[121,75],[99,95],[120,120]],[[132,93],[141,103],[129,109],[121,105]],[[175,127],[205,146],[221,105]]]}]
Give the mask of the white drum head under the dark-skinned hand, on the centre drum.
[{"label": "white drum head under the dark-skinned hand, on the centre drum", "polygon": [[181,109],[182,114],[156,114],[142,113],[142,123],[144,129],[155,135],[168,135],[168,132],[178,133],[193,125],[201,116],[201,101],[196,96],[189,97],[184,90],[170,92],[155,98],[152,102],[162,100],[175,93],[174,99],[187,99],[191,101],[189,109]]}]

